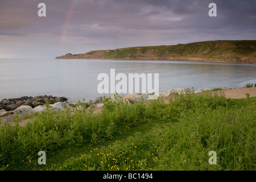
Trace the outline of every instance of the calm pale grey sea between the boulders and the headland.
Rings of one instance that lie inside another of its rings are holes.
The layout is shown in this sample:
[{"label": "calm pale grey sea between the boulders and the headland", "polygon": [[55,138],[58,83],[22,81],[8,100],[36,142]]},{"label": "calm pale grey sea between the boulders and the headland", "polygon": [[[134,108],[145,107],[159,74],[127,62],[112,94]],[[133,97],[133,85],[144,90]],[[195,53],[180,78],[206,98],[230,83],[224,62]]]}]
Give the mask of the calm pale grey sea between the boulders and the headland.
[{"label": "calm pale grey sea between the boulders and the headland", "polygon": [[[0,100],[64,96],[94,100],[100,73],[159,73],[159,92],[171,88],[236,88],[256,83],[256,65],[192,61],[0,59]],[[117,83],[118,81],[116,81]],[[110,96],[112,94],[106,94]]]}]

